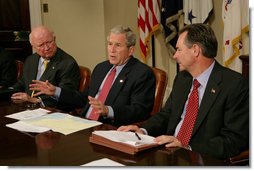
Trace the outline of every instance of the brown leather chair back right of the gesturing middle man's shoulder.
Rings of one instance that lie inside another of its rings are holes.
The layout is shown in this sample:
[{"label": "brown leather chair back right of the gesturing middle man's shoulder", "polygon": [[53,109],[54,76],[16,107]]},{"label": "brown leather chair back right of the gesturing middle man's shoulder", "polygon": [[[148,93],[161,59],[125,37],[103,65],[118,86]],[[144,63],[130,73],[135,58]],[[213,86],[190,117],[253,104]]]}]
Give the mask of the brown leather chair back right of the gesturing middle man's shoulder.
[{"label": "brown leather chair back right of the gesturing middle man's shoulder", "polygon": [[154,105],[151,115],[159,112],[162,104],[164,94],[167,88],[168,83],[168,76],[167,73],[159,68],[151,67],[156,79],[156,86],[155,86],[155,95],[154,95]]}]

